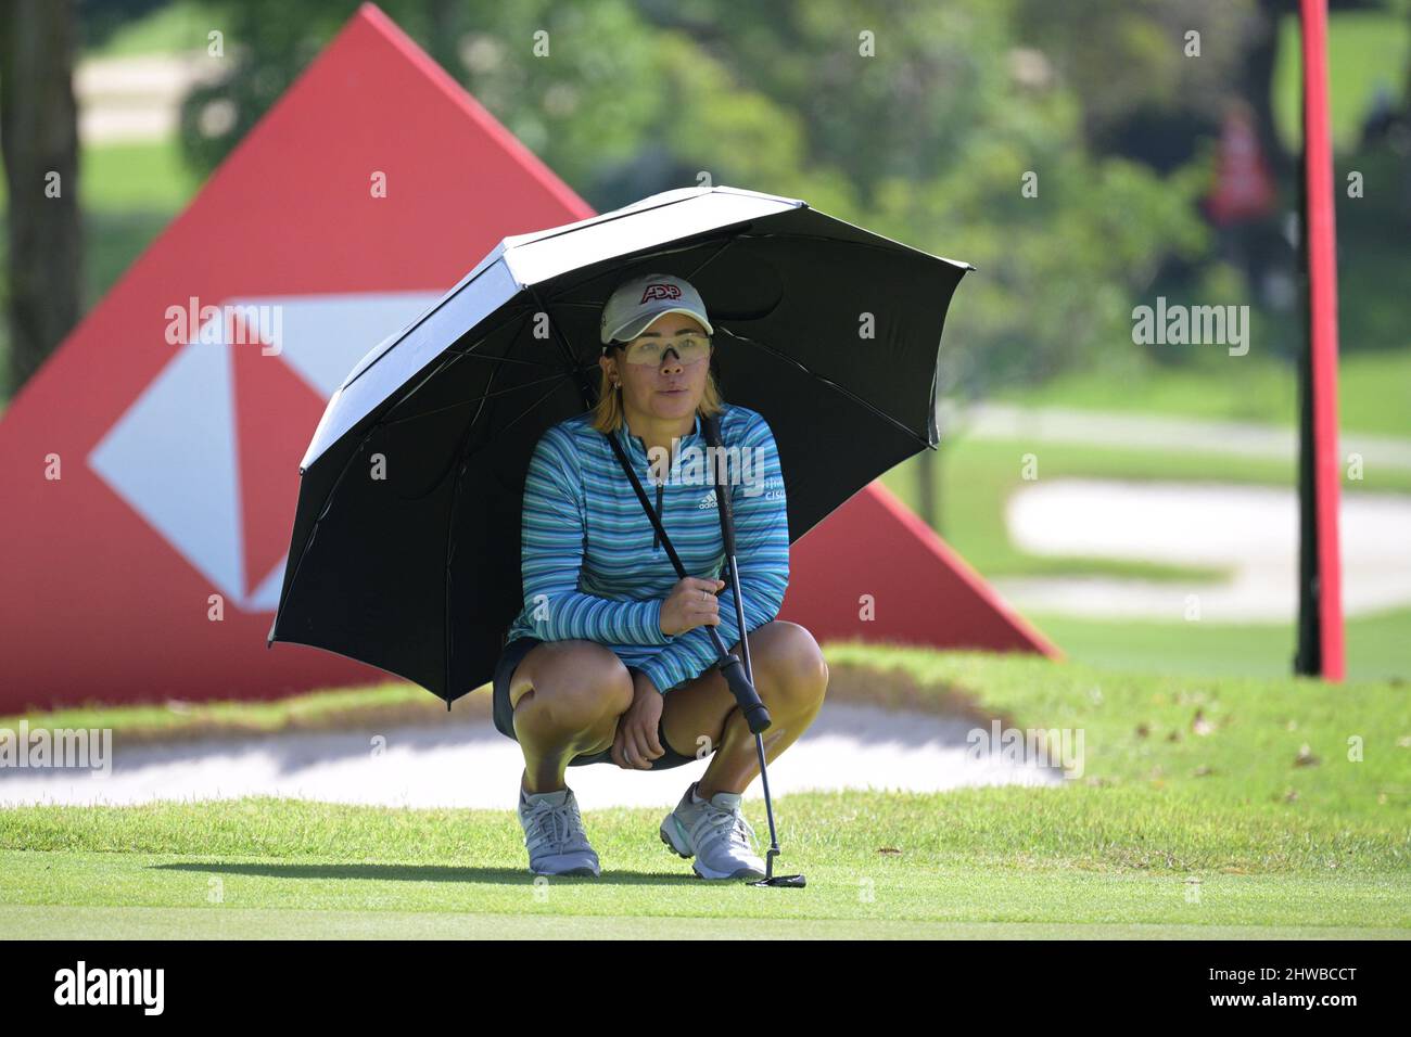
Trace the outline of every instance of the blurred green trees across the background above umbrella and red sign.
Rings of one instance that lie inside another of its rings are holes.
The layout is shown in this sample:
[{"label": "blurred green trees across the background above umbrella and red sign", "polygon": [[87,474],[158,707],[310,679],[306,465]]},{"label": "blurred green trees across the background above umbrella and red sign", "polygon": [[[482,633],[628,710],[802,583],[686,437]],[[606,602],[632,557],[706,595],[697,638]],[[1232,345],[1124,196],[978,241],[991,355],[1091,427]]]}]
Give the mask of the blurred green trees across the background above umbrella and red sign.
[{"label": "blurred green trees across the background above umbrella and red sign", "polygon": [[[203,52],[174,141],[85,145],[85,306],[347,21],[354,0],[78,3],[79,62]],[[1130,346],[1130,310],[1167,295],[1250,303],[1266,360],[1300,348],[1298,35],[1291,0],[385,0],[381,7],[600,210],[718,183],[816,207],[979,268],[952,312],[944,389],[1022,391],[1064,372],[1130,377],[1197,350]],[[1403,348],[1404,312],[1362,305],[1407,274],[1405,0],[1335,3],[1339,164],[1379,176],[1348,213],[1343,348]],[[1199,55],[1185,32],[1198,28]],[[549,54],[536,55],[536,32]],[[873,56],[859,51],[871,40]],[[1360,61],[1376,42],[1379,68]],[[1340,45],[1338,41],[1346,41]],[[1357,48],[1359,54],[1350,49]],[[1356,68],[1353,80],[1343,69]],[[1355,89],[1356,96],[1349,96]],[[1397,133],[1364,140],[1380,92]],[[1215,141],[1247,103],[1278,185],[1274,213],[1216,227]],[[1290,111],[1294,121],[1290,123]],[[1290,134],[1294,134],[1290,138]],[[107,154],[104,154],[107,152]],[[111,162],[104,162],[104,158]],[[119,161],[124,172],[117,171]],[[1024,196],[1026,174],[1036,196]],[[117,182],[103,182],[107,178]],[[100,179],[102,178],[102,179]],[[137,198],[124,198],[135,182]],[[1343,209],[1348,206],[1343,205]],[[144,216],[150,213],[151,219]],[[1339,213],[1342,216],[1342,213]],[[474,257],[467,257],[467,267]],[[4,395],[14,391],[4,387]]]}]

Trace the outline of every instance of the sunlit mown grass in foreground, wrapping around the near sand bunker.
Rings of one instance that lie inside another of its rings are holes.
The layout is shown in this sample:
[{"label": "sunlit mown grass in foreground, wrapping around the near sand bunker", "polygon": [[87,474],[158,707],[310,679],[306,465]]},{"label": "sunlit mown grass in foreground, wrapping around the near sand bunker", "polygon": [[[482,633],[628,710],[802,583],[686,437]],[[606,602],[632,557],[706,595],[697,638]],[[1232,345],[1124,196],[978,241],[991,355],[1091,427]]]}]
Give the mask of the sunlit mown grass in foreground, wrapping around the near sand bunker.
[{"label": "sunlit mown grass in foreground, wrapping around the near sand bunker", "polygon": [[[663,810],[586,811],[602,876],[535,879],[508,806],[8,808],[0,935],[1411,935],[1404,689],[827,652],[835,667],[873,669],[883,701],[964,696],[1020,728],[1082,729],[1084,773],[1051,787],[780,797],[779,871],[803,872],[806,889],[694,878],[658,839]],[[763,803],[745,806],[768,842]]]}]

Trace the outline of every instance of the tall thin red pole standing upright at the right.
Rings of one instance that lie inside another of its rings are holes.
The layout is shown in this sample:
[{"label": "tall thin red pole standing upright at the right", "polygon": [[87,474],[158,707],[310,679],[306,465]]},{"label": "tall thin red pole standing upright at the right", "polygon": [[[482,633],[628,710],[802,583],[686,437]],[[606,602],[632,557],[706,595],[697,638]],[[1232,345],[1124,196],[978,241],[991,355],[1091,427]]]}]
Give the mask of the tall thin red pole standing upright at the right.
[{"label": "tall thin red pole standing upright at the right", "polygon": [[1300,0],[1304,40],[1304,186],[1308,236],[1308,348],[1312,361],[1314,487],[1322,676],[1345,674],[1338,539],[1338,262],[1328,114],[1328,1]]}]

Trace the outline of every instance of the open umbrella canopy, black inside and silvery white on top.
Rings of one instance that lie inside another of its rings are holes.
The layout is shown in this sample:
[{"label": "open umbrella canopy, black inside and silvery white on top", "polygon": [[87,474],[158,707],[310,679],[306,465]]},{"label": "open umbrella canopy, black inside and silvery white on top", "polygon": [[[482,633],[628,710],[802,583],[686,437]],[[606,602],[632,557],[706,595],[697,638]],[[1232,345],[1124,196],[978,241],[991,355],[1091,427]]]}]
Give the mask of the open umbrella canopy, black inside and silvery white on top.
[{"label": "open umbrella canopy, black inside and silvery white on top", "polygon": [[529,457],[595,401],[602,305],[636,274],[706,299],[721,394],[769,422],[797,540],[935,446],[941,327],[968,269],[727,186],[504,238],[329,399],[299,463],[270,643],[371,663],[447,704],[491,679],[523,605]]}]

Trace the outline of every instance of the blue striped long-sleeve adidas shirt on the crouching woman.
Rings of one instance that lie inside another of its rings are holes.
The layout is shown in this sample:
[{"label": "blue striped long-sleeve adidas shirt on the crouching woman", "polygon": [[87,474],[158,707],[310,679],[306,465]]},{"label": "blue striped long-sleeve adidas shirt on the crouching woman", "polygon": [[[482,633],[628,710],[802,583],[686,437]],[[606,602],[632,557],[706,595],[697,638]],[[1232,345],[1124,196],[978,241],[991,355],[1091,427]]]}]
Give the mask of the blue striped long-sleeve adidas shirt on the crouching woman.
[{"label": "blue striped long-sleeve adidas shirt on the crouching woman", "polygon": [[[679,577],[618,464],[591,426],[591,412],[549,427],[525,477],[521,573],[523,611],[507,642],[586,639],[610,648],[666,693],[717,660],[706,626],[669,636],[662,604]],[[706,435],[676,444],[676,463],[655,485],[641,437],[618,429],[618,442],[642,481],[689,576],[718,578],[725,560]],[[735,550],[745,598],[745,629],[772,621],[789,586],[789,512],[779,450],[756,411],[725,404],[721,439],[735,514]],[[720,595],[725,648],[739,641],[735,597]]]}]

